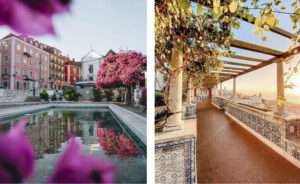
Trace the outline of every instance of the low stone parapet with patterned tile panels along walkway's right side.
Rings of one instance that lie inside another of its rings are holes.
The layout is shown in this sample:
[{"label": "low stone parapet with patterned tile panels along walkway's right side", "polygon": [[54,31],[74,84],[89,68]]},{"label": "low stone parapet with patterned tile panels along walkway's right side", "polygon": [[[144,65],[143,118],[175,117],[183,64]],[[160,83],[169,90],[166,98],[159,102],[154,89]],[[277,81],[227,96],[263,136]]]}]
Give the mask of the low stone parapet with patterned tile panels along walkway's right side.
[{"label": "low stone parapet with patterned tile panels along walkway's right side", "polygon": [[300,146],[291,138],[300,135],[300,120],[281,118],[242,105],[227,103],[226,114],[257,134],[264,143],[300,167]]}]

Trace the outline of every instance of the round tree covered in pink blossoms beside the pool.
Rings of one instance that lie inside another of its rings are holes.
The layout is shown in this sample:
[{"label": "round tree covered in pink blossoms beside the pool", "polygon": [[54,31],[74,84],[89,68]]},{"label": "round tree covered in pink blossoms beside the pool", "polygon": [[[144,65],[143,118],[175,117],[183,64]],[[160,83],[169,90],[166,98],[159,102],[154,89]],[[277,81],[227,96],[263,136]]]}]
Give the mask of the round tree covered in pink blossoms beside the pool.
[{"label": "round tree covered in pink blossoms beside the pool", "polygon": [[126,87],[127,104],[131,104],[132,86],[144,83],[147,57],[136,51],[126,51],[104,59],[97,74],[96,86],[102,89]]}]

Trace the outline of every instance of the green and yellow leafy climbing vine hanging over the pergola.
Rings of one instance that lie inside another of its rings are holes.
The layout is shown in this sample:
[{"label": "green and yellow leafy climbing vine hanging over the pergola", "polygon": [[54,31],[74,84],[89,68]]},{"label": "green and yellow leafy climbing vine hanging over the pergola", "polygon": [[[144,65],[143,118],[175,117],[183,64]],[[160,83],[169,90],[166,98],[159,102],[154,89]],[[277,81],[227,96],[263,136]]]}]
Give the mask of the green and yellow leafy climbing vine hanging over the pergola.
[{"label": "green and yellow leafy climbing vine hanging over the pergola", "polygon": [[[156,0],[155,66],[168,79],[164,89],[167,107],[170,80],[178,70],[184,71],[184,81],[191,79],[193,86],[201,86],[212,71],[223,69],[223,62],[218,58],[235,54],[230,50],[234,39],[232,31],[239,29],[242,21],[253,23],[253,33],[266,41],[265,33],[279,23],[277,14],[290,15],[295,30],[289,47],[291,51],[300,41],[299,4],[299,1],[293,1],[293,11],[287,12],[286,4],[280,0],[262,3],[259,0]],[[254,10],[259,10],[256,17]],[[174,49],[183,54],[180,68],[171,65]]]}]

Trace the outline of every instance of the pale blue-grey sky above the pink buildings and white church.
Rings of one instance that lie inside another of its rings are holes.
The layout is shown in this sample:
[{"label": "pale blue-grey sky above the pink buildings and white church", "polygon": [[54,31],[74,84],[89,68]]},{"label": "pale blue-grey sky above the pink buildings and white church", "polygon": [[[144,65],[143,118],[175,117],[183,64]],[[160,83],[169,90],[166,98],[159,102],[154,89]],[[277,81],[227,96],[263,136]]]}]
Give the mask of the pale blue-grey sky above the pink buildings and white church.
[{"label": "pale blue-grey sky above the pink buildings and white church", "polygon": [[[136,50],[146,55],[146,0],[73,0],[71,13],[55,15],[56,36],[34,37],[76,61],[93,49]],[[14,33],[0,27],[0,37]],[[16,33],[18,35],[18,33]]]}]

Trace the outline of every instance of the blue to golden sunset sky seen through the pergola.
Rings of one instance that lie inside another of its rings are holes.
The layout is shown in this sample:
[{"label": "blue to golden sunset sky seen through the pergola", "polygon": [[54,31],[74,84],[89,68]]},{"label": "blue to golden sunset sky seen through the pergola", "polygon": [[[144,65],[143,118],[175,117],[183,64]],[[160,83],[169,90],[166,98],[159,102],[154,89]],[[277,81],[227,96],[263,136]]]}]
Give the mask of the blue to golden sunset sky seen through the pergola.
[{"label": "blue to golden sunset sky seen through the pergola", "polygon": [[[289,5],[291,4],[292,1],[287,0],[283,2],[287,5],[287,9],[285,11],[291,12],[291,8]],[[253,11],[253,13],[257,14],[258,12]],[[292,33],[295,32],[295,30],[292,29],[292,22],[288,15],[283,15],[283,14],[276,14],[276,15],[277,18],[279,19],[278,27]],[[266,34],[267,41],[264,42],[261,41],[261,36],[256,36],[253,33],[253,31],[254,31],[254,25],[243,22],[239,30],[234,30],[235,39],[265,46],[282,52],[287,51],[291,43],[288,38],[282,37],[272,32]],[[261,59],[269,59],[272,57],[269,55],[244,51],[241,49],[233,48],[232,50],[236,51],[238,55],[243,55],[243,56],[261,58]],[[233,58],[224,58],[224,60],[231,60],[237,62],[240,61],[238,59],[233,59]],[[291,63],[292,66],[294,66],[298,60],[299,57],[295,58]],[[248,63],[257,64],[257,62],[251,62],[251,61],[249,61]],[[288,68],[289,65],[284,66],[285,72],[288,70]],[[270,94],[274,96],[276,92],[276,85],[277,85],[276,77],[277,77],[276,64],[271,64],[269,66],[263,67],[261,69],[237,77],[236,79],[237,91],[248,95],[258,94],[259,92],[261,92],[263,94],[263,97],[264,95],[269,96]],[[286,97],[288,98],[288,101],[293,101],[294,98],[292,99],[292,96],[297,95],[299,97],[299,99],[297,99],[298,103],[300,103],[300,74],[299,73],[294,74],[291,77],[290,81],[294,82],[297,85],[297,87],[293,90],[286,89],[286,94],[287,94]],[[228,90],[232,90],[232,86],[233,86],[232,84],[233,81],[229,80],[223,83],[223,87],[226,87]]]}]

